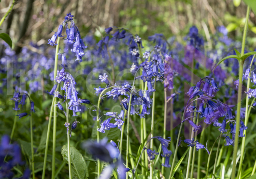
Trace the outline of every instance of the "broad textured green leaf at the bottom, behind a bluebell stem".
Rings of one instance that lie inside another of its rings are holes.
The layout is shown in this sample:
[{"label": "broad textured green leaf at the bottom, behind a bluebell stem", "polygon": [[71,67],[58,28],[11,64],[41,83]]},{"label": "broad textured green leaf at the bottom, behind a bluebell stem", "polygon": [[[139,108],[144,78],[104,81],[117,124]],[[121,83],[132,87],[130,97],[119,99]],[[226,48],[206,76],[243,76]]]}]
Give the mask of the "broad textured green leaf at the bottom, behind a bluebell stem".
[{"label": "broad textured green leaf at the bottom, behind a bluebell stem", "polygon": [[[68,147],[63,145],[61,149],[63,160],[68,164]],[[73,146],[70,146],[70,160],[72,165],[72,174],[78,179],[87,179],[89,177],[87,165],[82,154]]]}]

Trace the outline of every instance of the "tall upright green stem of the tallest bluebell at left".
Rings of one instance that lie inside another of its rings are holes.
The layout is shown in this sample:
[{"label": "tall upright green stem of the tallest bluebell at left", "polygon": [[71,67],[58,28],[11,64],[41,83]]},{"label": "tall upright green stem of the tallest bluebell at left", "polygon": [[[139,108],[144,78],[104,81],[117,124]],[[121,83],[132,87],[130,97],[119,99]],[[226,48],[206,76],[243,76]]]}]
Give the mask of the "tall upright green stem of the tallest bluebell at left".
[{"label": "tall upright green stem of the tallest bluebell at left", "polygon": [[[60,37],[57,39],[56,51],[55,51],[55,63],[54,63],[54,76],[57,76],[58,70],[58,53],[60,46]],[[58,88],[56,88],[58,90]],[[53,158],[52,158],[52,179],[55,176],[55,150],[56,150],[56,125],[57,125],[57,107],[53,104]]]}]

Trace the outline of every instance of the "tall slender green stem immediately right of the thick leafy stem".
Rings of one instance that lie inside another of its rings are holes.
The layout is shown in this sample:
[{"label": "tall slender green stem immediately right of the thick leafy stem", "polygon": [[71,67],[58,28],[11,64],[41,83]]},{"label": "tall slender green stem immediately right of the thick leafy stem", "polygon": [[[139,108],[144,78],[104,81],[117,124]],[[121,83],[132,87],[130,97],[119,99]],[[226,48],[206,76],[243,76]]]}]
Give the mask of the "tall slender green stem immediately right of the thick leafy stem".
[{"label": "tall slender green stem immediately right of the thick leafy stem", "polygon": [[[252,62],[255,58],[255,55],[252,57],[252,60],[251,60],[251,64],[250,64],[250,68],[252,66]],[[249,74],[249,77],[250,77],[250,74]],[[248,77],[247,79],[247,92],[249,91],[249,88],[250,88],[250,78]],[[249,98],[248,96],[246,96],[246,104],[245,104],[245,119],[244,119],[244,125],[247,126],[248,124],[248,119],[249,119],[249,115],[248,115],[248,104],[249,104]],[[238,167],[238,173],[237,173],[237,176],[239,176],[238,178],[240,179],[241,178],[241,171],[242,171],[242,164],[243,164],[243,157],[244,157],[244,149],[245,149],[245,139],[246,139],[246,131],[244,131],[244,135],[245,137],[243,137],[242,139],[242,146],[241,146],[241,156],[240,156],[240,163],[239,163],[239,167]]]}]

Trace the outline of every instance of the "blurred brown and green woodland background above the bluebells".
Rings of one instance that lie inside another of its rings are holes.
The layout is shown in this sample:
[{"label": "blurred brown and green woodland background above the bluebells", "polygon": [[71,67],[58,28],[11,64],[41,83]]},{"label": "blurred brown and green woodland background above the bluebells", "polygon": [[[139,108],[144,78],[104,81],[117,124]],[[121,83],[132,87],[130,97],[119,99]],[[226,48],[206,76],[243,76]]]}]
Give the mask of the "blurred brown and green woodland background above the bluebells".
[{"label": "blurred brown and green woodland background above the bluebells", "polygon": [[[1,1],[0,16],[11,2]],[[17,0],[1,31],[11,36],[19,52],[19,47],[29,46],[31,40],[39,46],[46,43],[51,30],[56,31],[63,16],[71,12],[82,37],[88,33],[100,36],[95,32],[96,23],[102,31],[110,26],[126,27],[143,39],[162,33],[167,39],[175,35],[181,42],[189,27],[196,25],[209,40],[209,34],[224,25],[231,38],[240,40],[246,8],[237,0]],[[256,17],[251,12],[247,39],[251,46],[256,44],[255,34]]]}]

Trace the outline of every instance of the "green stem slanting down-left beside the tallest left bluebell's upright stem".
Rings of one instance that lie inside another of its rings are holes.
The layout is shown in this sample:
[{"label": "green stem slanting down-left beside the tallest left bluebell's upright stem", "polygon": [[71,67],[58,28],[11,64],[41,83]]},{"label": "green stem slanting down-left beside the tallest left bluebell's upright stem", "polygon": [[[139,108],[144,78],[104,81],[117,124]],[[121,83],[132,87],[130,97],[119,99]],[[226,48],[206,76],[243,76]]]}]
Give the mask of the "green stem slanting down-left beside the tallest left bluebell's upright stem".
[{"label": "green stem slanting down-left beside the tallest left bluebell's upright stem", "polygon": [[[57,89],[59,88],[59,85],[57,86]],[[52,122],[52,113],[53,113],[53,106],[56,101],[56,98],[53,98],[52,106],[50,108],[50,116],[49,116],[49,122],[48,122],[48,129],[47,129],[47,136],[46,136],[46,144],[45,144],[45,158],[43,160],[43,174],[42,179],[45,179],[45,170],[46,170],[46,162],[47,162],[47,153],[48,153],[48,145],[49,145],[49,136],[50,136],[50,126]]]}]

